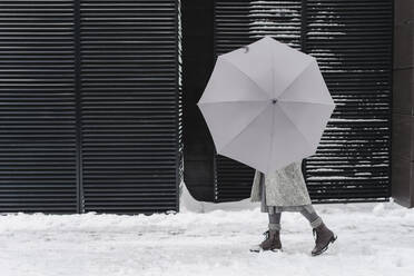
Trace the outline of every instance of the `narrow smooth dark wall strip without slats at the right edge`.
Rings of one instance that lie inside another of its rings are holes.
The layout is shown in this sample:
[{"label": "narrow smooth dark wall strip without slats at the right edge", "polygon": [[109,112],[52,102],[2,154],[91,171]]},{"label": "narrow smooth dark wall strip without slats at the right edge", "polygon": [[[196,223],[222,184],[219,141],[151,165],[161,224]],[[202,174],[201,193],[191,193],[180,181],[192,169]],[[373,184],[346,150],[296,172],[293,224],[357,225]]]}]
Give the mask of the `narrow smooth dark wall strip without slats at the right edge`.
[{"label": "narrow smooth dark wall strip without slats at the right edge", "polygon": [[414,207],[414,1],[394,1],[393,197]]}]

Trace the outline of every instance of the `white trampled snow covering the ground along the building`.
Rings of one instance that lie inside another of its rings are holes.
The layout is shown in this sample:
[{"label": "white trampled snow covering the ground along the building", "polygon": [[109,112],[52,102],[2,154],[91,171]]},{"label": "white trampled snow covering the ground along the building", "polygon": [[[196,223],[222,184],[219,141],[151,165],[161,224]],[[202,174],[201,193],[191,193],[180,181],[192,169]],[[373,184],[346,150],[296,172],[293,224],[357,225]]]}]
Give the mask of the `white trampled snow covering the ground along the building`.
[{"label": "white trampled snow covering the ground along the building", "polygon": [[267,226],[258,205],[184,194],[181,207],[152,216],[0,216],[0,275],[414,275],[414,210],[393,203],[316,205],[338,235],[318,257],[299,214],[283,214],[283,253],[254,254],[248,248]]}]

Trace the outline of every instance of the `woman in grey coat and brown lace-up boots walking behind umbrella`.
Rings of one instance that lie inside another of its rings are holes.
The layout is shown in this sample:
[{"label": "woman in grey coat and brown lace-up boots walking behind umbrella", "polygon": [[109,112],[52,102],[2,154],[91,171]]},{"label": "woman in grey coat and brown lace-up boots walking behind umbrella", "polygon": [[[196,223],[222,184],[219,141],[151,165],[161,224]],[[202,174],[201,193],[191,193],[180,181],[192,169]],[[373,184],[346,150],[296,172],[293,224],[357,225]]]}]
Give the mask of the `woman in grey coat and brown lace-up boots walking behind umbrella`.
[{"label": "woman in grey coat and brown lace-up boots walking behind umbrella", "polygon": [[299,211],[310,224],[315,239],[312,255],[324,253],[336,236],[329,230],[312,206],[309,194],[302,174],[302,161],[292,162],[265,177],[256,170],[252,187],[252,201],[262,201],[262,211],[268,213],[266,239],[252,252],[282,250],[282,211]]}]

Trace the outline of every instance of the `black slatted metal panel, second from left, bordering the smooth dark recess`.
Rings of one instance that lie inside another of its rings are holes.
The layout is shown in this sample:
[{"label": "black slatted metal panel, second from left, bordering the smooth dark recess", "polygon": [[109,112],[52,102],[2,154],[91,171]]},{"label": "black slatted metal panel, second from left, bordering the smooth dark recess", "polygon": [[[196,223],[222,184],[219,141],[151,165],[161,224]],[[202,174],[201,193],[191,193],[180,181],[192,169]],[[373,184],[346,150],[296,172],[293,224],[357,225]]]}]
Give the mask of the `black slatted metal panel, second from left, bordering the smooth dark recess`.
[{"label": "black slatted metal panel, second from left, bordering the smooth dark recess", "polygon": [[80,3],[85,210],[178,210],[178,2]]}]

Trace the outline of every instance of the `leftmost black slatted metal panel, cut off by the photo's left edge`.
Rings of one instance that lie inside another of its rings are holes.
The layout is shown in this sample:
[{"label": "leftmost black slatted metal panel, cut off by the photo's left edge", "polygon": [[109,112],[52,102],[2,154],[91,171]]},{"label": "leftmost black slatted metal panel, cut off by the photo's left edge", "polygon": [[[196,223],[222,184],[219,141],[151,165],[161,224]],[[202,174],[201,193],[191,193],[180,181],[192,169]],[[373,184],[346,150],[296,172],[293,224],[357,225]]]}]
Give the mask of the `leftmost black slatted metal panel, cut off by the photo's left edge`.
[{"label": "leftmost black slatted metal panel, cut off by the photo's left edge", "polygon": [[0,1],[0,211],[76,213],[72,0]]}]

